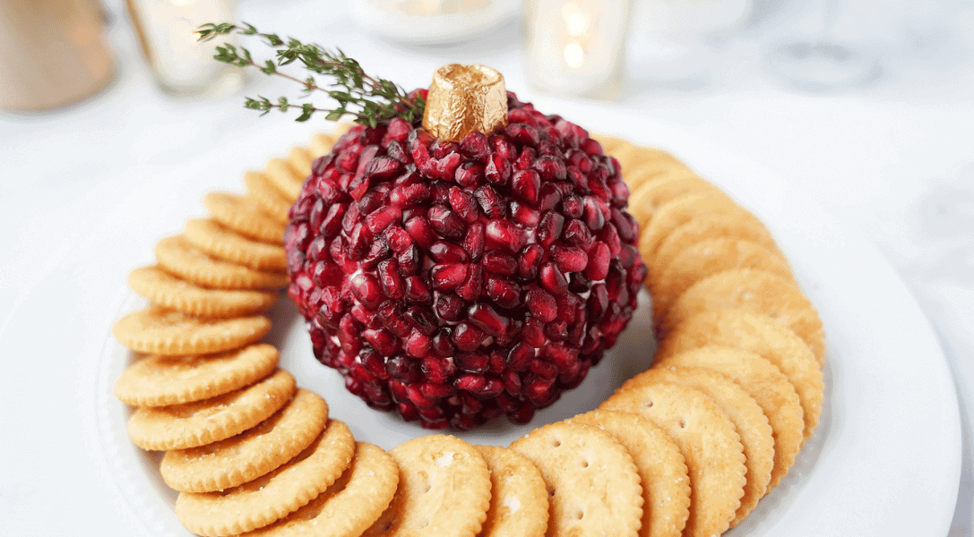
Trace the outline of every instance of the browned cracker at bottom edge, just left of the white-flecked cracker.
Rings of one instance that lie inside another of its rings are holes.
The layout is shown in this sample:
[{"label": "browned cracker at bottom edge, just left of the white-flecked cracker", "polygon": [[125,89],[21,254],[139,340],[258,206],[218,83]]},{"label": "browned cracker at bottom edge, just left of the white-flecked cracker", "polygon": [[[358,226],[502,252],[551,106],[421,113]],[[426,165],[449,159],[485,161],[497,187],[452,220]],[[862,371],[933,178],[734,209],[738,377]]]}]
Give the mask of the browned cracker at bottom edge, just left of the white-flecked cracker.
[{"label": "browned cracker at bottom edge, just left of the white-flecked cracker", "polygon": [[241,537],[358,537],[389,506],[399,483],[393,457],[371,444],[356,444],[342,477],[308,505]]}]

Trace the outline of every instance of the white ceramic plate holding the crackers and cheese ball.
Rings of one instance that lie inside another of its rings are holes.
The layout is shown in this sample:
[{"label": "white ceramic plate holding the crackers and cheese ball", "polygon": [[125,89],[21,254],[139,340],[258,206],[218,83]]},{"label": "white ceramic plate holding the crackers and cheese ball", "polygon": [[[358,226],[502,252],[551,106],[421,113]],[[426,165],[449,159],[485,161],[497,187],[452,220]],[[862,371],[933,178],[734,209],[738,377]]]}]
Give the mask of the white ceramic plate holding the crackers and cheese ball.
[{"label": "white ceramic plate holding the crackers and cheese ball", "polygon": [[[960,473],[959,413],[953,379],[926,318],[903,282],[860,234],[798,197],[786,181],[752,161],[715,149],[678,128],[636,124],[633,114],[571,102],[536,102],[580,125],[602,125],[667,149],[753,210],[791,261],[827,333],[826,398],[818,429],[788,477],[728,535],[943,536],[950,528]],[[190,214],[187,208],[186,214]],[[645,297],[644,297],[645,299]],[[539,412],[532,426],[585,412],[651,361],[648,301],[618,345],[581,387]],[[120,315],[139,307],[130,295]],[[318,365],[294,307],[273,310],[271,342],[299,385],[322,395],[356,439],[383,448],[428,434],[390,414],[369,410],[341,378]],[[158,454],[131,445],[129,410],[112,385],[131,353],[105,340],[96,382],[97,436],[112,478],[150,535],[187,536],[175,519],[175,494],[162,482]],[[500,423],[459,436],[506,445],[529,427]]]}]

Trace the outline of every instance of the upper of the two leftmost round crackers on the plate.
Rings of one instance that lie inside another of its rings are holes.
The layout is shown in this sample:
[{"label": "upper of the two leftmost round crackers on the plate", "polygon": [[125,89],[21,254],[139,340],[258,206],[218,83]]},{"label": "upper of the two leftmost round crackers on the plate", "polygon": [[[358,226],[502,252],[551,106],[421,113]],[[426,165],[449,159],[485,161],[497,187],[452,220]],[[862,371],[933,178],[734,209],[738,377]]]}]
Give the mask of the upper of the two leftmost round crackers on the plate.
[{"label": "upper of the two leftmost round crackers on the plate", "polygon": [[260,340],[271,330],[264,315],[196,317],[151,304],[122,317],[112,335],[136,352],[152,354],[213,354]]}]

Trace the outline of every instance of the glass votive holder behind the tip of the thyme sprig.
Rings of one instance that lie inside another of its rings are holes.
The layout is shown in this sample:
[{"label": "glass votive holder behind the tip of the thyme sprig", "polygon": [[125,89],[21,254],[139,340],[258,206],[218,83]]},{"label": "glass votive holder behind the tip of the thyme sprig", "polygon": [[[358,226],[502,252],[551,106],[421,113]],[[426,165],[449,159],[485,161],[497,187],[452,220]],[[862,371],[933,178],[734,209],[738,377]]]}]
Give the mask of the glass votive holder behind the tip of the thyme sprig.
[{"label": "glass votive holder behind the tip of the thyme sprig", "polygon": [[200,42],[206,22],[235,20],[233,0],[126,0],[142,52],[163,90],[183,96],[223,94],[243,84],[243,70],[213,59],[234,36]]}]

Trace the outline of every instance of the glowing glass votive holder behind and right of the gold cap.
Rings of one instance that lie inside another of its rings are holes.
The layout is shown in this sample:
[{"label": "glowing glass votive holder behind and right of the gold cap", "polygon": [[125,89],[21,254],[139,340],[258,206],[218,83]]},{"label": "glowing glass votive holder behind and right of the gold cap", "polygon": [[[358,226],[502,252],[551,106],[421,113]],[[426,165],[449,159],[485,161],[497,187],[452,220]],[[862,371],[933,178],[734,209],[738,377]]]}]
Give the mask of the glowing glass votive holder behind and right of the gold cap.
[{"label": "glowing glass votive holder behind and right of the gold cap", "polygon": [[631,0],[528,0],[528,81],[553,93],[616,98],[631,5]]}]

